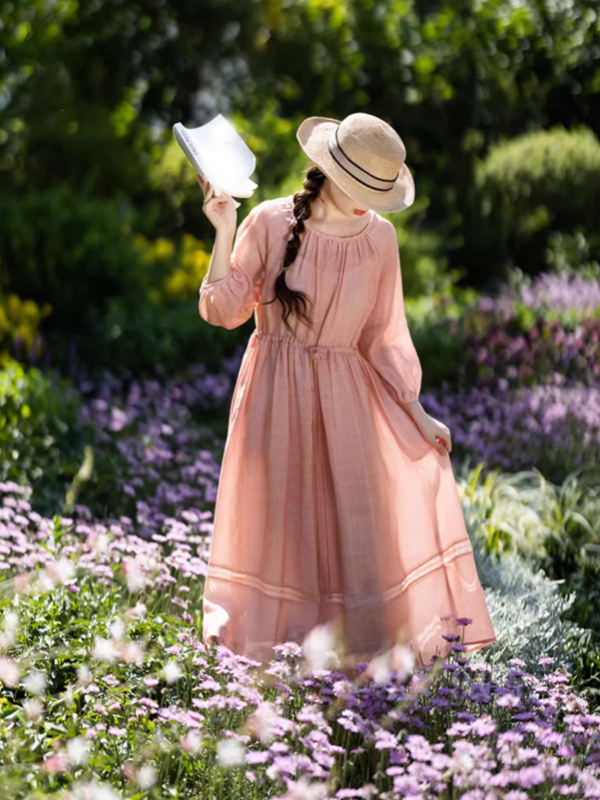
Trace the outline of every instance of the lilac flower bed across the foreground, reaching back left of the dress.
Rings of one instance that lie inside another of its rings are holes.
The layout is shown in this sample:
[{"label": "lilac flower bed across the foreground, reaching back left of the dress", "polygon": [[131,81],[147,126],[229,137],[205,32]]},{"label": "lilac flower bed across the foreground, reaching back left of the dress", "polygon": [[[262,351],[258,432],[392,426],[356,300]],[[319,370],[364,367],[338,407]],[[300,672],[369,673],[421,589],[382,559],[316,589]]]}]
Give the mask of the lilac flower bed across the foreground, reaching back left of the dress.
[{"label": "lilac flower bed across the foreground, reaching back left of the dress", "polygon": [[[2,796],[600,797],[600,714],[539,586],[529,624],[546,638],[506,653],[519,619],[504,579],[486,589],[498,644],[464,657],[455,641],[427,670],[401,645],[350,668],[327,627],[266,667],[203,645],[222,441],[201,420],[235,371],[127,387],[82,377],[103,480],[84,461],[69,514],[52,515],[25,483],[0,484]],[[489,587],[499,567],[480,566]]]}]

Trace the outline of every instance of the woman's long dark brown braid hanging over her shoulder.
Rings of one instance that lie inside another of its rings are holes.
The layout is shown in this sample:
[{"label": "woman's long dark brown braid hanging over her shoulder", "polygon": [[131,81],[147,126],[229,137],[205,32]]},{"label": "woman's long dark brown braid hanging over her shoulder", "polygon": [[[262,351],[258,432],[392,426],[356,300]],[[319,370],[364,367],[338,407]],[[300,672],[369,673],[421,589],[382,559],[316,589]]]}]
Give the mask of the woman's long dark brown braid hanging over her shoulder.
[{"label": "woman's long dark brown braid hanging over her shoulder", "polygon": [[311,215],[312,203],[319,196],[321,186],[325,180],[324,173],[316,167],[312,166],[306,173],[306,177],[302,183],[302,189],[294,195],[294,219],[295,222],[290,229],[290,234],[287,240],[287,247],[283,257],[283,267],[277,279],[275,280],[275,297],[260,303],[260,305],[270,305],[276,300],[281,301],[283,306],[283,321],[291,331],[292,328],[287,321],[289,315],[293,312],[298,314],[300,319],[304,320],[306,324],[312,328],[312,322],[306,313],[307,301],[312,303],[310,297],[304,292],[290,289],[285,282],[285,273],[290,265],[295,261],[298,251],[300,249],[300,234],[304,233],[304,220],[308,219]]}]

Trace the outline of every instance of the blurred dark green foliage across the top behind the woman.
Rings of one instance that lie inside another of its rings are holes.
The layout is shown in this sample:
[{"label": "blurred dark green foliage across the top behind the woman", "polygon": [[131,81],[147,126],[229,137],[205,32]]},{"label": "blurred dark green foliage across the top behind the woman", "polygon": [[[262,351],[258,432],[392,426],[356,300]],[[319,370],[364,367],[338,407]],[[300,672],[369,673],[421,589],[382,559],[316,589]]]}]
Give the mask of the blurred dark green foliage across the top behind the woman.
[{"label": "blurred dark green foliage across the top behind the woman", "polygon": [[[115,316],[135,309],[155,327],[128,322],[132,354],[170,358],[165,329],[197,336],[191,352],[233,344],[177,311],[197,313],[201,272],[178,263],[183,237],[206,241],[204,269],[213,230],[174,122],[234,121],[257,154],[253,204],[300,188],[305,116],[386,119],[417,183],[399,223],[417,291],[471,270],[466,222],[492,145],[557,124],[600,133],[597,0],[0,0],[0,16],[0,288],[50,305],[59,361],[67,341],[91,362],[111,342],[118,358]],[[173,256],[149,264],[140,236]]]}]

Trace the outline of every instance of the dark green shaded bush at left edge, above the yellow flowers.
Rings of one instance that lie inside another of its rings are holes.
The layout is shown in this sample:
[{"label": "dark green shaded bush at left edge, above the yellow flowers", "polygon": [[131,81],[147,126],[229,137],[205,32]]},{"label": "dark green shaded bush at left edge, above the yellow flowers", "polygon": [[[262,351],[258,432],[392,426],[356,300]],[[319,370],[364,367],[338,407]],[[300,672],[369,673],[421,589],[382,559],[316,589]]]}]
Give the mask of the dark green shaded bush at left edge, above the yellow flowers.
[{"label": "dark green shaded bush at left edge, above the yellow flowers", "polygon": [[[35,224],[32,224],[34,221]],[[0,258],[8,289],[52,307],[49,329],[86,327],[109,298],[145,283],[127,200],[68,186],[0,197]]]}]

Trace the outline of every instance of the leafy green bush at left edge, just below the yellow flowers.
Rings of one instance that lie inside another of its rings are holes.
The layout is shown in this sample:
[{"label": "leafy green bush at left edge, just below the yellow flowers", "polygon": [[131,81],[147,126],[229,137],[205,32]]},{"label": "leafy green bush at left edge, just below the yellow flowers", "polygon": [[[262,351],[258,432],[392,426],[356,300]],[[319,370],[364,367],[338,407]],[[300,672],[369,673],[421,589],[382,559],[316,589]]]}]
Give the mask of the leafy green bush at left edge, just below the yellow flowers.
[{"label": "leafy green bush at left edge, just below the yellow flowers", "polygon": [[92,432],[65,378],[11,361],[0,370],[0,480],[29,484],[39,513],[54,513]]}]

